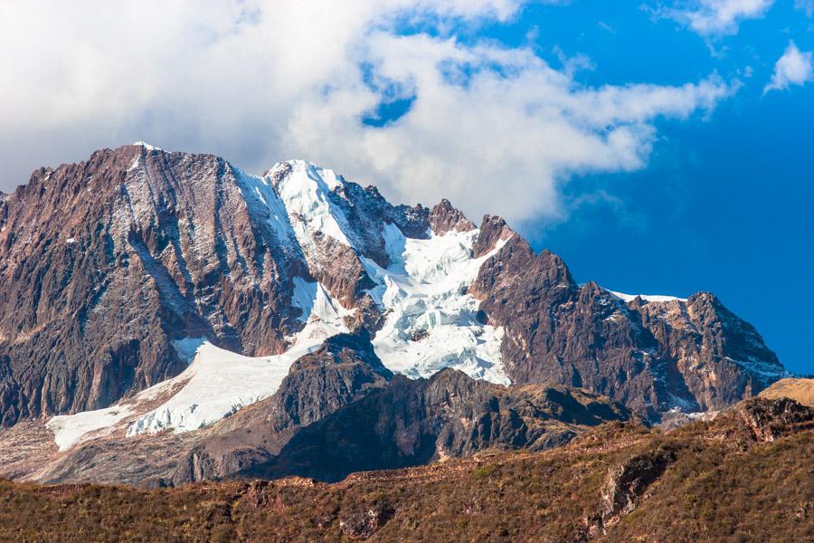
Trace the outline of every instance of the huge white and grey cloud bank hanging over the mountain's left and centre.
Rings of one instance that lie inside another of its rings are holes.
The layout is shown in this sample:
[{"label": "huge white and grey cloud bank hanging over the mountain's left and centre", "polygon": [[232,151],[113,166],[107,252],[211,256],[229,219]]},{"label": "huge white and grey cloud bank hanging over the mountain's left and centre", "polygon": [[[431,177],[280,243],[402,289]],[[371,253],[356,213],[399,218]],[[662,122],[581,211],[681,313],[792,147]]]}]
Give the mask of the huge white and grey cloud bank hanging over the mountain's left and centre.
[{"label": "huge white and grey cloud bank hanging over the mountain's left and centre", "polygon": [[[553,219],[569,177],[644,167],[656,119],[710,111],[737,88],[714,74],[674,87],[586,87],[531,48],[456,38],[455,28],[521,8],[0,5],[0,188],[33,167],[143,139],[256,173],[304,157],[396,201],[449,197],[473,218]],[[438,32],[404,35],[428,24]],[[409,104],[401,117],[369,122],[394,100]]]}]

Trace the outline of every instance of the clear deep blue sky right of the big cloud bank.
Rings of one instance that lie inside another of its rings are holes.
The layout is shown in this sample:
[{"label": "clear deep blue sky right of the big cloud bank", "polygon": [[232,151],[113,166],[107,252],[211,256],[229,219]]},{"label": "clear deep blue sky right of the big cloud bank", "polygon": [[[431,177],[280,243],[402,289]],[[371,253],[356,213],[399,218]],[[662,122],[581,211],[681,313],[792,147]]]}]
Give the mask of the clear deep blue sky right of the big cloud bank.
[{"label": "clear deep blue sky right of the big cloud bank", "polygon": [[[717,71],[743,88],[708,116],[658,123],[648,166],[582,176],[573,198],[603,190],[554,225],[525,224],[536,249],[563,256],[577,281],[616,291],[712,291],[761,331],[792,371],[814,372],[814,84],[762,94],[790,39],[814,49],[812,20],[790,2],[707,42],[640,2],[532,6],[487,29],[507,41],[534,32],[552,62],[582,53],[587,84],[677,84]],[[607,25],[607,28],[605,25]],[[743,76],[752,68],[749,78]]]}]

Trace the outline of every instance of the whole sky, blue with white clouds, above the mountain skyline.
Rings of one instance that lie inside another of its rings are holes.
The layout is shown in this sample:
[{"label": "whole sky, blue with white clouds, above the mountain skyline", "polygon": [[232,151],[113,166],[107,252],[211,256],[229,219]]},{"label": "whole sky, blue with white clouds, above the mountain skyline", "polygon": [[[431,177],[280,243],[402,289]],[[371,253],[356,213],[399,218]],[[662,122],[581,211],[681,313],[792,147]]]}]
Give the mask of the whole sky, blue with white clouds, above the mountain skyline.
[{"label": "whole sky, blue with white clouds, above the mountain skyline", "polygon": [[0,3],[0,190],[137,140],[506,217],[814,372],[814,0]]}]

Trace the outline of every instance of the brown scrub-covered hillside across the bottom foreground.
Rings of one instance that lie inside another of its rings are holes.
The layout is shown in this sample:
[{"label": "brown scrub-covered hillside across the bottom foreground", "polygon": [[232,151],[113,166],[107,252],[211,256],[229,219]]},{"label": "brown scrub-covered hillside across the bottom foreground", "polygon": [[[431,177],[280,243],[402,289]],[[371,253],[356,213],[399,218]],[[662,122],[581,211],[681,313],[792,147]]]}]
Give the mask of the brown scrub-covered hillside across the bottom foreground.
[{"label": "brown scrub-covered hillside across the bottom foreground", "polygon": [[154,491],[0,481],[0,539],[810,541],[814,409],[747,400],[664,433],[606,424],[544,452]]}]

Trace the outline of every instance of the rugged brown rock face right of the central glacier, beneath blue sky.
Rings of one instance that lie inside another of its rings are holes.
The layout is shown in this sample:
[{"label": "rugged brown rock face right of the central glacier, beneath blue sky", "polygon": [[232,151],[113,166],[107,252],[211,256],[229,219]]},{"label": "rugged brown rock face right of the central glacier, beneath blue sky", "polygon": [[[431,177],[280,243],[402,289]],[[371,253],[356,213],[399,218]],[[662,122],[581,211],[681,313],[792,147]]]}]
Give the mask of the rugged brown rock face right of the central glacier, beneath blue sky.
[{"label": "rugged brown rock face right of the central glacier, beneath blue sky", "polygon": [[[480,235],[506,228],[487,216]],[[650,419],[721,409],[784,374],[757,330],[715,295],[648,300],[578,285],[560,257],[535,254],[519,236],[480,267],[470,291],[484,318],[506,329],[501,353],[516,383],[582,386]]]}]

